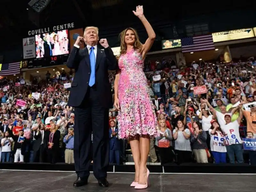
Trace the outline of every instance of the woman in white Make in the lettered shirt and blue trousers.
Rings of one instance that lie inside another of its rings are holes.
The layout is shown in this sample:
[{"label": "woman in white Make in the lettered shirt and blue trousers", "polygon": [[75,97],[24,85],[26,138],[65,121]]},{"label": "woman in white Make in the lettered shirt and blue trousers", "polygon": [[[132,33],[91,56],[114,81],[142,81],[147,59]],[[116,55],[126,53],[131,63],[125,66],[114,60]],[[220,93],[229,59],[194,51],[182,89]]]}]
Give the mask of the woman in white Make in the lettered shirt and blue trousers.
[{"label": "woman in white Make in the lettered shirt and blue trousers", "polygon": [[212,127],[209,129],[209,133],[211,136],[210,146],[213,158],[216,164],[226,163],[227,149],[224,145],[225,137],[220,131],[220,124],[217,121],[212,120],[211,124]]}]

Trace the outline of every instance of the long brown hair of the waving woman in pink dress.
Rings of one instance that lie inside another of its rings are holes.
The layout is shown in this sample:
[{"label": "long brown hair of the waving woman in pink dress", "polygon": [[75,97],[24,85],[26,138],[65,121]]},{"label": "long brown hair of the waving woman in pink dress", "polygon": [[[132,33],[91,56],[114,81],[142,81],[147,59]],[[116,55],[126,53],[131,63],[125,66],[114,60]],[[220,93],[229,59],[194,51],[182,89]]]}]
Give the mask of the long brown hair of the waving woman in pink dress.
[{"label": "long brown hair of the waving woman in pink dress", "polygon": [[137,50],[138,52],[141,52],[141,49],[142,49],[142,43],[140,42],[139,40],[139,36],[138,36],[138,33],[135,29],[133,29],[132,27],[128,27],[126,29],[124,29],[120,34],[119,34],[119,37],[120,37],[120,41],[121,41],[121,45],[120,45],[120,55],[122,54],[125,54],[126,53],[126,50],[127,50],[127,46],[126,46],[126,43],[124,41],[124,38],[125,38],[125,34],[128,30],[132,30],[134,35],[135,35],[135,42],[134,42],[134,45],[133,45],[133,48],[134,50]]}]

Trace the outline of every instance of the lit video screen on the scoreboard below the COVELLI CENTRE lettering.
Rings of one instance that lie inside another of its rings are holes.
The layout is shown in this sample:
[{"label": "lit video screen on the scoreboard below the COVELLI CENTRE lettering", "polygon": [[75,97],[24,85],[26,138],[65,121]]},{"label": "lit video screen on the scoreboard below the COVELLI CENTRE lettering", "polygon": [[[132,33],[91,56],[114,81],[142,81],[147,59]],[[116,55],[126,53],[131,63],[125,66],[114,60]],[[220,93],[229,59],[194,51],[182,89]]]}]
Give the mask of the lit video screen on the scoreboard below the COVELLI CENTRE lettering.
[{"label": "lit video screen on the scoreboard below the COVELLI CENTRE lettering", "polygon": [[69,53],[68,30],[36,35],[36,58]]}]

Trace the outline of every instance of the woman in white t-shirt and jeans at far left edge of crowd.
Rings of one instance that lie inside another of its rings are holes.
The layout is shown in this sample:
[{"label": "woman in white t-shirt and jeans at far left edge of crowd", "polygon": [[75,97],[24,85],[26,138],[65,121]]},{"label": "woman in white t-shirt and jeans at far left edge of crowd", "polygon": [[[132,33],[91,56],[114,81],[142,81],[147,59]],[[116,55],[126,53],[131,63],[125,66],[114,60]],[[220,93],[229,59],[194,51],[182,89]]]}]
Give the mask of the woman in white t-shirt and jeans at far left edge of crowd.
[{"label": "woman in white t-shirt and jeans at far left edge of crowd", "polygon": [[11,156],[11,151],[12,151],[12,142],[13,142],[13,139],[12,139],[12,137],[9,137],[9,132],[5,131],[4,132],[4,138],[1,139],[1,145],[2,145],[1,159],[2,159],[2,163],[10,161],[10,156]]}]

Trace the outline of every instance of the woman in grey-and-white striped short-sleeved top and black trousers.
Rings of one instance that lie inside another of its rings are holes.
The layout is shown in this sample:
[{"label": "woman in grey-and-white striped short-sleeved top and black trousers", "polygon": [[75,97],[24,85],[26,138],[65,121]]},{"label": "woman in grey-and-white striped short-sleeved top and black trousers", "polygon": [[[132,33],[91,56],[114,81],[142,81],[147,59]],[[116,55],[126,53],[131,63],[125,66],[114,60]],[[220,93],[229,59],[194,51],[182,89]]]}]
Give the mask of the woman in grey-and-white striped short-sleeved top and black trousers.
[{"label": "woman in grey-and-white striped short-sleeved top and black trousers", "polygon": [[177,127],[173,130],[174,149],[177,154],[177,163],[188,163],[192,160],[192,150],[190,146],[190,131],[185,129],[184,123],[178,120]]}]

